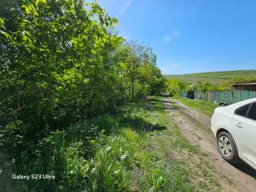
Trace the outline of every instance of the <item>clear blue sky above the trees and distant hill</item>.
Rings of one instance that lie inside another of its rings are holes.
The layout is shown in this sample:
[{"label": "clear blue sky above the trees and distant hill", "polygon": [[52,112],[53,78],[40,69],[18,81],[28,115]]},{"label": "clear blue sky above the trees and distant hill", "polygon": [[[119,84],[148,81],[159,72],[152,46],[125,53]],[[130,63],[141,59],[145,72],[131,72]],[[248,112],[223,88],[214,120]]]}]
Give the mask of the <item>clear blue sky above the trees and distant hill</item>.
[{"label": "clear blue sky above the trees and distant hill", "polygon": [[[90,1],[92,2],[92,1]],[[256,70],[255,0],[98,0],[162,74]]]}]

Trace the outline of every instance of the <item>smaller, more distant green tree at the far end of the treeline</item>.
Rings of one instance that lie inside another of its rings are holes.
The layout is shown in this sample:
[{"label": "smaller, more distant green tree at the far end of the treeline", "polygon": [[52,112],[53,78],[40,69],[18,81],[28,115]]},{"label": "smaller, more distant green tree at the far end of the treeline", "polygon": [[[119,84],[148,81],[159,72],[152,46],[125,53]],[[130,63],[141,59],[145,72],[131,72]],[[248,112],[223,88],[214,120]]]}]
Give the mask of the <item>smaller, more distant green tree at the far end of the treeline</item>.
[{"label": "smaller, more distant green tree at the far end of the treeline", "polygon": [[[138,95],[150,94],[152,87],[154,87],[154,92],[159,92],[156,91],[155,85],[158,84],[158,79],[162,78],[162,74],[155,66],[156,55],[153,53],[152,48],[130,41],[126,42],[123,49],[126,50],[124,66],[126,77],[130,84],[131,101],[134,101],[135,92]],[[159,83],[159,85],[161,84],[163,83]],[[136,87],[137,89],[135,90]],[[159,89],[161,90],[162,86]]]}]

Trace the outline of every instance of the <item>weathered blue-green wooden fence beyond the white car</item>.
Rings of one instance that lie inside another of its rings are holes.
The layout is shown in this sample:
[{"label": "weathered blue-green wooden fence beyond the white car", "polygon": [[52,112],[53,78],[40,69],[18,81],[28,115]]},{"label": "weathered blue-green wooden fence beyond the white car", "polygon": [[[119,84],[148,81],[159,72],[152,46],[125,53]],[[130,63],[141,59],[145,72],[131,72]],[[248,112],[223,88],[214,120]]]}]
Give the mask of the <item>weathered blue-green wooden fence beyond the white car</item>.
[{"label": "weathered blue-green wooden fence beyond the white car", "polygon": [[182,97],[198,98],[212,102],[226,102],[232,104],[249,98],[256,98],[256,91],[252,90],[194,90],[182,91]]}]

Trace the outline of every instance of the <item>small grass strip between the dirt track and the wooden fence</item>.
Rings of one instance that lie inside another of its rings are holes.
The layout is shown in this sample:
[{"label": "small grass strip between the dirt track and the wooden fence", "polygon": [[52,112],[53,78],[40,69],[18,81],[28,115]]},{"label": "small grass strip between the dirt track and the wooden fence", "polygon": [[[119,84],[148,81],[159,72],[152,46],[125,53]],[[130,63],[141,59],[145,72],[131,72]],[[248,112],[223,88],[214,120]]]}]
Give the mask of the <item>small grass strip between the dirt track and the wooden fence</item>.
[{"label": "small grass strip between the dirt track and the wooden fence", "polygon": [[203,101],[198,99],[190,99],[190,98],[177,98],[179,102],[184,103],[187,106],[191,106],[198,112],[205,114],[208,117],[211,117],[212,112],[218,106],[214,104],[214,102]]}]

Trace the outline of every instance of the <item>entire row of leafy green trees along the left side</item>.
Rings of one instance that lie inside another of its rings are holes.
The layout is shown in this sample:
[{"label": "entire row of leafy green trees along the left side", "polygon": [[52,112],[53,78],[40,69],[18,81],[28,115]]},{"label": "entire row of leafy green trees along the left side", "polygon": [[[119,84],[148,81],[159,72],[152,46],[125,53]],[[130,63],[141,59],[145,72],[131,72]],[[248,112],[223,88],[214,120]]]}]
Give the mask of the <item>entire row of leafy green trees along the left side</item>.
[{"label": "entire row of leafy green trees along the left side", "polygon": [[153,50],[118,36],[97,2],[7,0],[0,23],[3,137],[40,138],[165,86]]}]

